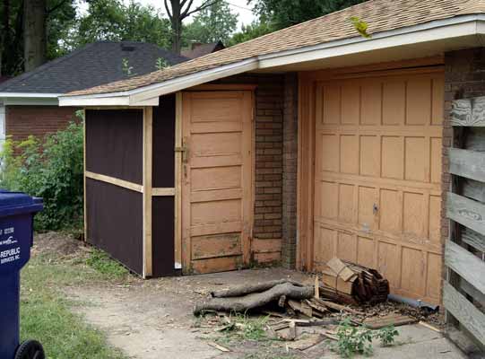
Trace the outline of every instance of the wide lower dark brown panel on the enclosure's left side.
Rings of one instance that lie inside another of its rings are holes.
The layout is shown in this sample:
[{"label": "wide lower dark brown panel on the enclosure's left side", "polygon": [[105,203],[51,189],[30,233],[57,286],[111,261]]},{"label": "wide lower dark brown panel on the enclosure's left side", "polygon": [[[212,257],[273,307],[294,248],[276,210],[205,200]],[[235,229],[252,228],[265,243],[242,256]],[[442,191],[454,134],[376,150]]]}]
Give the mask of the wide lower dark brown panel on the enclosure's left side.
[{"label": "wide lower dark brown panel on the enclosure's left side", "polygon": [[142,194],[98,180],[86,179],[86,203],[88,242],[107,251],[112,258],[141,275]]}]

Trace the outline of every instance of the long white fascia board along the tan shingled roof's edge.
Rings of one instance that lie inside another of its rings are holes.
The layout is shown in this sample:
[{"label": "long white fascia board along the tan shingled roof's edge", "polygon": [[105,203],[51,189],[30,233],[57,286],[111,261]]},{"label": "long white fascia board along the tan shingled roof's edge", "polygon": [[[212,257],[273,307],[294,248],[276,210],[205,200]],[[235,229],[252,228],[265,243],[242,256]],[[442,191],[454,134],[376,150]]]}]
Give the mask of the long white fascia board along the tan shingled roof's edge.
[{"label": "long white fascia board along the tan shingled roof's edge", "polygon": [[[295,48],[277,53],[251,57],[237,63],[218,66],[194,74],[177,77],[162,83],[154,83],[126,92],[108,92],[91,95],[61,96],[60,106],[158,106],[159,96],[208,83],[234,74],[257,69],[298,64],[325,58],[342,57],[379,49],[398,48],[463,36],[485,34],[485,14],[456,16],[427,22],[393,31],[374,34],[372,39],[354,37],[324,44]],[[483,44],[481,44],[483,46]]]}]

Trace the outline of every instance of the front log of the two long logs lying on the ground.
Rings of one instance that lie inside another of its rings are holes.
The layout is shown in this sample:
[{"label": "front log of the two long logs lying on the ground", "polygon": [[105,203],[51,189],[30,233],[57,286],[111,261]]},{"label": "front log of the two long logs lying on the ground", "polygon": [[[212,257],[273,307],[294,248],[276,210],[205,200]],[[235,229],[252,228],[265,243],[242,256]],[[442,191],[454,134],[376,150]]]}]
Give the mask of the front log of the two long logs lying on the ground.
[{"label": "front log of the two long logs lying on the ground", "polygon": [[313,294],[313,285],[297,286],[291,283],[281,283],[262,293],[248,293],[241,297],[211,298],[207,302],[195,305],[194,314],[199,315],[203,311],[245,312],[262,307],[269,302],[278,301],[281,295],[286,295],[289,299],[302,300],[313,297]]}]

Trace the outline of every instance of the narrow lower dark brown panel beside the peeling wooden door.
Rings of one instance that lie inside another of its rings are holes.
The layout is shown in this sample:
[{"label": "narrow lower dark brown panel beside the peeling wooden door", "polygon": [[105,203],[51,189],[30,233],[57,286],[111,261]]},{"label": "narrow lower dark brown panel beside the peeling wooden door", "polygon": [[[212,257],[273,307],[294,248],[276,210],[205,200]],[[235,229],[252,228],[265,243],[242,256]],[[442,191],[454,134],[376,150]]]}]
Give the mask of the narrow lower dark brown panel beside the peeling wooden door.
[{"label": "narrow lower dark brown panel beside the peeling wooden door", "polygon": [[153,276],[174,276],[174,197],[152,200]]}]

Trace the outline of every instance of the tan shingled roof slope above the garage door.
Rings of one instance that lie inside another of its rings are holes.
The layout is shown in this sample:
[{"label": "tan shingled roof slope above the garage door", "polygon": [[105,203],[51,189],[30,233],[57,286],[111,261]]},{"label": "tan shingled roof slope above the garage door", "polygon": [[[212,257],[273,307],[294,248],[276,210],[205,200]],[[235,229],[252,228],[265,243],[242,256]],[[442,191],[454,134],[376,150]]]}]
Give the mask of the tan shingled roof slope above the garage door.
[{"label": "tan shingled roof slope above the garage door", "polygon": [[349,20],[351,16],[367,22],[368,33],[372,34],[471,13],[485,13],[485,0],[369,0],[152,74],[69,95],[124,92],[251,57],[354,38],[359,35]]}]

